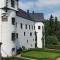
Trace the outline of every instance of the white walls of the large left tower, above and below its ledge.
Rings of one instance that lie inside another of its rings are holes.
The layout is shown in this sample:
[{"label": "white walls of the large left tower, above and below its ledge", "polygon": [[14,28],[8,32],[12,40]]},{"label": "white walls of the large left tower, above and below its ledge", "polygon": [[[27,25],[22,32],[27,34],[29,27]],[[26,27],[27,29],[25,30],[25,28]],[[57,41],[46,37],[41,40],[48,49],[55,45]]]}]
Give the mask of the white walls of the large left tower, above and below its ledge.
[{"label": "white walls of the large left tower, above and below its ledge", "polygon": [[[17,10],[17,2],[15,1],[15,7],[11,7],[11,0],[8,0],[7,7],[12,10],[5,12],[2,8],[6,7],[6,0],[0,0],[0,42],[2,42],[1,52],[3,57],[16,55],[15,41],[12,41],[12,33],[16,33],[16,26],[12,25],[12,17],[15,18]],[[6,14],[7,13],[7,14]],[[8,16],[7,21],[2,21],[3,14]],[[15,51],[12,52],[12,48]]]}]

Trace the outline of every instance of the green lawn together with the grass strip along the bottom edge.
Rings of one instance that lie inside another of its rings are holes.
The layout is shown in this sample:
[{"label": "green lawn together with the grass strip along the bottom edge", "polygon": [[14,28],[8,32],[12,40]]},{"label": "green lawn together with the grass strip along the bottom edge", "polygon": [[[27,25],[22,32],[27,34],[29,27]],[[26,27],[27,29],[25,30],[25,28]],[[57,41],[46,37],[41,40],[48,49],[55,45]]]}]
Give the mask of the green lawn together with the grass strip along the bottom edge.
[{"label": "green lawn together with the grass strip along the bottom edge", "polygon": [[[29,49],[21,52],[19,57],[2,58],[2,60],[52,60],[60,56],[60,50],[54,49]],[[27,59],[29,58],[29,59]]]}]

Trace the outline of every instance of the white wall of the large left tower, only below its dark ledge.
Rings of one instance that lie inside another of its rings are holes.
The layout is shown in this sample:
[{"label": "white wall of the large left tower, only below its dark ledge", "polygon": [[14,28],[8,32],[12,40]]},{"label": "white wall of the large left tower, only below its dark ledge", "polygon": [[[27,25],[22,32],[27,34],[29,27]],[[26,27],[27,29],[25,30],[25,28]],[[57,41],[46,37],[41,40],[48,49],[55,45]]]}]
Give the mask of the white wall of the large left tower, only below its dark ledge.
[{"label": "white wall of the large left tower, only below its dark ledge", "polygon": [[[4,10],[1,10],[1,14]],[[12,41],[11,34],[15,31],[15,26],[12,25],[12,17],[15,17],[15,11],[8,11],[8,20],[2,21],[2,15],[0,15],[0,42],[2,42],[2,56],[12,56],[16,54],[16,50],[12,53],[12,48],[16,48],[15,42]]]}]

